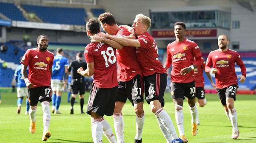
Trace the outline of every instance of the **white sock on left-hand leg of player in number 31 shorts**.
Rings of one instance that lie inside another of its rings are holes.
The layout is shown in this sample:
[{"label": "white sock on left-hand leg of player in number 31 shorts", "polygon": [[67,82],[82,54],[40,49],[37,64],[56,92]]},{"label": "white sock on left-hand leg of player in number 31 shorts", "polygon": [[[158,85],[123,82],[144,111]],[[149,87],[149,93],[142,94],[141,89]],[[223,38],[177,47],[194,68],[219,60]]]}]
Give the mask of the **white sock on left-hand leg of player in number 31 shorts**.
[{"label": "white sock on left-hand leg of player in number 31 shorts", "polygon": [[117,136],[117,143],[124,142],[124,119],[122,113],[113,114],[115,135]]}]

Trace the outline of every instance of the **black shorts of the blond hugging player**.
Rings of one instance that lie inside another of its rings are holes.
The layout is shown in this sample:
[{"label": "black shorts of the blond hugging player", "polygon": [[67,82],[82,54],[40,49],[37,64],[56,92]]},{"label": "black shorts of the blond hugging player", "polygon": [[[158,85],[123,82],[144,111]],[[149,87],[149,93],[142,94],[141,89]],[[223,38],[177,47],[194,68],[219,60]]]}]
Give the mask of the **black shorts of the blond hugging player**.
[{"label": "black shorts of the blond hugging player", "polygon": [[150,76],[143,77],[145,83],[145,99],[148,104],[150,101],[159,100],[161,106],[165,106],[165,100],[163,98],[165,88],[167,85],[167,74],[152,74]]}]

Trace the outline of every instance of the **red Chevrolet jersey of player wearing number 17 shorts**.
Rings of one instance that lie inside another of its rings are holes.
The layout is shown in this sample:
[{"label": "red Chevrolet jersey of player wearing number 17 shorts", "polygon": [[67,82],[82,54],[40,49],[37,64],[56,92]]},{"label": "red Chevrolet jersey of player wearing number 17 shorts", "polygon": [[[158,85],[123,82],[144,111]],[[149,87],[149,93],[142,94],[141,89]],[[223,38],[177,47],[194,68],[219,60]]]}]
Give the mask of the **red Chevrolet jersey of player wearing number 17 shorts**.
[{"label": "red Chevrolet jersey of player wearing number 17 shorts", "polygon": [[28,65],[28,80],[33,88],[51,86],[51,71],[54,54],[46,50],[42,52],[39,48],[28,49],[20,63]]}]

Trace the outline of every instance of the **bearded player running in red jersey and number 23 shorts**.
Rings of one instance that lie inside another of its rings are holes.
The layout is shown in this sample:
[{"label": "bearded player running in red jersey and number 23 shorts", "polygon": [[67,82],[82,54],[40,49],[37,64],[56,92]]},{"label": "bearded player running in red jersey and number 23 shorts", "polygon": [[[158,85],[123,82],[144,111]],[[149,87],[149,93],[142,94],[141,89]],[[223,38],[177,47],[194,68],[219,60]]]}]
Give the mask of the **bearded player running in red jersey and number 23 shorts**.
[{"label": "bearded player running in red jersey and number 23 shorts", "polygon": [[[235,63],[241,68],[242,75],[239,82],[245,82],[246,68],[240,55],[228,48],[228,36],[222,34],[218,37],[219,49],[211,51],[208,55],[205,71],[215,74],[215,81],[219,100],[223,105],[226,116],[232,124],[232,139],[239,137],[237,113],[234,108],[238,88]],[[211,68],[213,67],[213,68]]]}]

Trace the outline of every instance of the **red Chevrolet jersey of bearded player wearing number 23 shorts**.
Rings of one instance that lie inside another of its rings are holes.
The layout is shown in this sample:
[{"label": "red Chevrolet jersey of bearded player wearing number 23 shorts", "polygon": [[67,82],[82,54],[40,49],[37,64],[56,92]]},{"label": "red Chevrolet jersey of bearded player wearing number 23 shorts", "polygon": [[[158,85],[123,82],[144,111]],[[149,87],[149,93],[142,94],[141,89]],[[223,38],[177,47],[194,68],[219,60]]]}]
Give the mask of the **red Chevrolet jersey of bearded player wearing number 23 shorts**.
[{"label": "red Chevrolet jersey of bearded player wearing number 23 shorts", "polygon": [[221,52],[219,49],[214,50],[208,55],[205,71],[210,72],[211,66],[218,69],[218,72],[215,73],[216,87],[226,88],[232,84],[237,84],[235,63],[239,65],[242,75],[246,77],[245,65],[236,51],[230,49],[226,52]]}]

